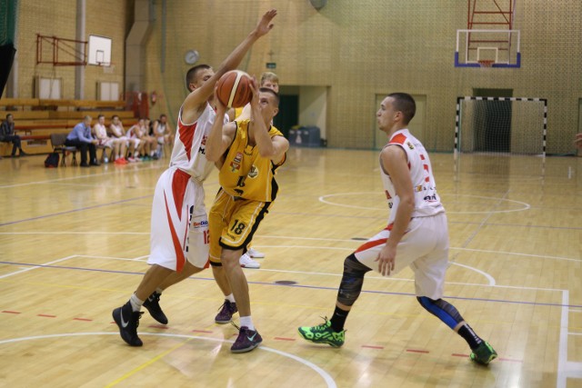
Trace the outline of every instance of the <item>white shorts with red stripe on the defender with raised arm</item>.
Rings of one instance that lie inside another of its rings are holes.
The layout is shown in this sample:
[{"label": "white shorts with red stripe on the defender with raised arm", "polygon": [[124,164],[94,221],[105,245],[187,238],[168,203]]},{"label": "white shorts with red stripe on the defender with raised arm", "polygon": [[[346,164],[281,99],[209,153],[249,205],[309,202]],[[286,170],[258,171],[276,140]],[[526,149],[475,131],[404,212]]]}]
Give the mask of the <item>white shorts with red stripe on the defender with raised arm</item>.
[{"label": "white shorts with red stripe on the defender with raised arm", "polygon": [[176,167],[158,179],[152,204],[148,264],[180,272],[186,260],[198,268],[208,266],[208,216],[204,187]]}]

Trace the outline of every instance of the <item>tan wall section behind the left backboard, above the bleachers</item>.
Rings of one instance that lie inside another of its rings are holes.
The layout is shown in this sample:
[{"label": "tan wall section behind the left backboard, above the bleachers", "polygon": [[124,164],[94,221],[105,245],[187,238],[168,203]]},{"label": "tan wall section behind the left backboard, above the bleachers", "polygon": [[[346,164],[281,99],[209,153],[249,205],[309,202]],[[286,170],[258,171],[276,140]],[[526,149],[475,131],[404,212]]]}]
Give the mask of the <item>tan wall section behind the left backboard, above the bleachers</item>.
[{"label": "tan wall section behind the left backboard, above the bleachers", "polygon": [[[115,69],[111,74],[105,73],[103,67],[85,66],[84,99],[96,99],[96,83],[116,82],[120,90],[124,87],[124,42],[127,2],[118,0],[86,0],[85,40],[89,35],[100,35],[113,39],[111,47],[112,61]],[[75,66],[54,66],[36,64],[36,34],[75,39],[76,0],[35,1],[21,0],[18,10],[18,27],[16,42],[16,60],[18,62],[17,95],[20,98],[34,96],[34,78],[62,78],[62,98],[75,98]],[[66,45],[73,45],[68,43]],[[52,46],[43,43],[43,58],[52,60],[48,55]],[[73,53],[66,47],[66,52]],[[72,58],[65,52],[59,52],[60,60]]]}]

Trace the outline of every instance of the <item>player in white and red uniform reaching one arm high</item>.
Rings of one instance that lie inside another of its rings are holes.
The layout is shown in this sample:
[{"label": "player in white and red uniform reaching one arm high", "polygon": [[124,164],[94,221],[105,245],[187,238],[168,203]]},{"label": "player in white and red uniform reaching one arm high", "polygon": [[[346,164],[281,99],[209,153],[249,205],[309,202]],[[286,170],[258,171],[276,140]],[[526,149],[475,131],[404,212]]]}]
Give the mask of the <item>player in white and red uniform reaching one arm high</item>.
[{"label": "player in white and red uniform reaching one arm high", "polygon": [[156,184],[152,204],[151,266],[129,301],[113,311],[121,338],[131,346],[143,344],[137,336],[142,305],[156,321],[167,323],[159,306],[160,293],[207,266],[208,221],[202,183],[213,167],[205,152],[206,136],[216,118],[208,102],[218,79],[236,69],[256,40],[273,28],[275,16],[275,9],[267,11],[216,73],[208,65],[196,65],[186,74],[190,94],[180,108],[170,165]]}]

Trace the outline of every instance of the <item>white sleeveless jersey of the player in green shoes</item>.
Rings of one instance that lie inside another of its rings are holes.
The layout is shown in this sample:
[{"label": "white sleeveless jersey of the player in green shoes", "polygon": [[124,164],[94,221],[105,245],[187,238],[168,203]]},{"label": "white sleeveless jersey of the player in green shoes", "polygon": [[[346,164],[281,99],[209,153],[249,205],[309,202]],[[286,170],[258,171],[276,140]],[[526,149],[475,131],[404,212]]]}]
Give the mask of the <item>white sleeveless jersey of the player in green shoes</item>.
[{"label": "white sleeveless jersey of the player in green shoes", "polygon": [[[408,168],[415,194],[415,209],[411,216],[427,217],[444,212],[445,208],[440,203],[440,197],[437,194],[437,184],[435,183],[430,159],[428,159],[424,145],[415,136],[410,134],[407,129],[401,129],[393,134],[385,146],[392,144],[401,146],[406,152],[406,158],[408,159]],[[400,198],[396,195],[394,184],[392,184],[390,176],[382,168],[381,162],[380,174],[386,191],[388,206],[392,209],[388,217],[388,224],[392,224],[396,218],[396,209],[400,203]]]}]

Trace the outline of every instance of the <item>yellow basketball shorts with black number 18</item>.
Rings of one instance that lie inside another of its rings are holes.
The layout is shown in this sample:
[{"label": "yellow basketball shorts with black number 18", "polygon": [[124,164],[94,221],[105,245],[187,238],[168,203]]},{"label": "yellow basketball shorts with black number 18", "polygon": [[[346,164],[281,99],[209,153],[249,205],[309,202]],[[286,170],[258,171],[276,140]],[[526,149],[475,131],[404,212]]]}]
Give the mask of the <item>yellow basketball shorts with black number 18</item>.
[{"label": "yellow basketball shorts with black number 18", "polygon": [[235,251],[246,248],[271,204],[271,202],[235,199],[220,189],[208,214],[210,261],[220,263],[223,248]]}]

